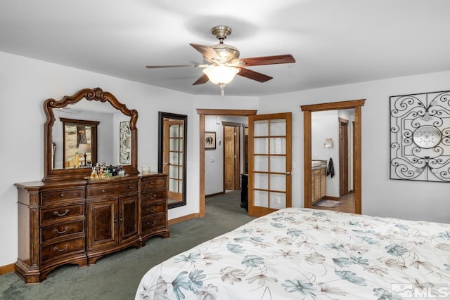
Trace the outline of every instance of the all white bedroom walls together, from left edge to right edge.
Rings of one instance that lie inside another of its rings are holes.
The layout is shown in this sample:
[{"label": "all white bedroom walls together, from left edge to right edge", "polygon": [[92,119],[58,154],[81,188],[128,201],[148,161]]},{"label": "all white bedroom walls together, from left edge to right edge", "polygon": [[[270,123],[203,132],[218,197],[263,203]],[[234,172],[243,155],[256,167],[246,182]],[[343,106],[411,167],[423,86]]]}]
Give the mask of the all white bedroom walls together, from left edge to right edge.
[{"label": "all white bedroom walls together, from left edge to right edge", "polygon": [[44,122],[47,98],[101,87],[139,111],[138,164],[158,164],[158,111],[188,115],[187,205],[169,210],[169,219],[199,211],[199,130],[196,109],[293,112],[293,205],[303,207],[303,115],[300,105],[366,98],[362,108],[362,209],[364,214],[450,223],[449,183],[389,180],[389,96],[443,91],[450,72],[332,86],[276,96],[192,96],[185,93],[77,70],[0,52],[0,266],[17,259],[17,190],[14,183],[44,175]]}]

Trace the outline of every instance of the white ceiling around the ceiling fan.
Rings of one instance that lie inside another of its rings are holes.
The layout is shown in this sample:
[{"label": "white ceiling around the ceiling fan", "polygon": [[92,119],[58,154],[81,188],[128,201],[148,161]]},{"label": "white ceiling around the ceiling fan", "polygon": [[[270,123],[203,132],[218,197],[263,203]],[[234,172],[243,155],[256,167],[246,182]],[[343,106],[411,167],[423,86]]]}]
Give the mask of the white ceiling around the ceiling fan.
[{"label": "white ceiling around the ceiling fan", "polygon": [[293,64],[249,67],[229,96],[264,96],[450,70],[448,0],[0,0],[0,51],[194,95],[203,63],[189,43],[213,45],[215,25],[241,58],[292,54]]}]

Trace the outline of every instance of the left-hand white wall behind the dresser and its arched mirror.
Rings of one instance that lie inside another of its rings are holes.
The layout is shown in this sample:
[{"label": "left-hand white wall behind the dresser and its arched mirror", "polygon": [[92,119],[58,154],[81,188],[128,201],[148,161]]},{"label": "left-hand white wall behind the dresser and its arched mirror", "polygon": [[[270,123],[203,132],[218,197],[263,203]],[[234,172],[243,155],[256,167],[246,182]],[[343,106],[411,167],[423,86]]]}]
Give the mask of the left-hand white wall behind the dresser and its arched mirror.
[{"label": "left-hand white wall behind the dresser and its arched mirror", "polygon": [[[9,145],[0,150],[4,169],[0,181],[0,266],[17,259],[17,190],[14,183],[40,181],[44,176],[44,100],[60,100],[79,89],[99,86],[103,91],[113,93],[130,109],[138,110],[139,169],[142,165],[157,169],[159,110],[188,115],[189,119],[195,120],[194,99],[186,93],[8,53],[0,52],[0,65],[0,126],[4,129],[1,140],[4,145]],[[198,135],[198,122],[188,129],[189,136]],[[198,169],[198,151],[194,150],[194,143],[188,143],[188,169]],[[198,178],[198,171],[194,173],[197,177],[192,182]],[[171,209],[169,217],[195,212],[198,212],[198,185],[188,187],[188,205]]]}]

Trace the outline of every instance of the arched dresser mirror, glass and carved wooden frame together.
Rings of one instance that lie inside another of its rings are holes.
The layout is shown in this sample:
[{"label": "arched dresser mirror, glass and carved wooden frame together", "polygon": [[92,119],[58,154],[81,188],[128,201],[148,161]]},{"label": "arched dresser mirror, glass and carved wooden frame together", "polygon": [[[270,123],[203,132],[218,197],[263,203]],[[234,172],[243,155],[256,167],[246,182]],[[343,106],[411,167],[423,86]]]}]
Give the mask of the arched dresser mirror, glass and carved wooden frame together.
[{"label": "arched dresser mirror, glass and carved wooden frame together", "polygon": [[96,163],[121,164],[125,174],[139,174],[138,112],[112,93],[82,89],[60,100],[47,99],[44,111],[43,181],[84,178]]}]

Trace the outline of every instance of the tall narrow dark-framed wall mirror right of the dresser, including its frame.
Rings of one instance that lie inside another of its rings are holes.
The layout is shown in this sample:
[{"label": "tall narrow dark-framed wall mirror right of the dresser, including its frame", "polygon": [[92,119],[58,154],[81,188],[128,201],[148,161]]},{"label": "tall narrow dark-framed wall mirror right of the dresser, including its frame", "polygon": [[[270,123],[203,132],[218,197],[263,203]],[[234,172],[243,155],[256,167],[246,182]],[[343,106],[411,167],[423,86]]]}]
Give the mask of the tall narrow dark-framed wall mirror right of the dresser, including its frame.
[{"label": "tall narrow dark-framed wall mirror right of the dresser, including its frame", "polygon": [[188,116],[159,112],[158,171],[169,174],[168,207],[186,205]]}]

